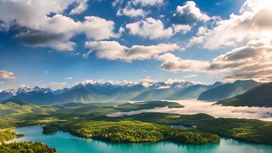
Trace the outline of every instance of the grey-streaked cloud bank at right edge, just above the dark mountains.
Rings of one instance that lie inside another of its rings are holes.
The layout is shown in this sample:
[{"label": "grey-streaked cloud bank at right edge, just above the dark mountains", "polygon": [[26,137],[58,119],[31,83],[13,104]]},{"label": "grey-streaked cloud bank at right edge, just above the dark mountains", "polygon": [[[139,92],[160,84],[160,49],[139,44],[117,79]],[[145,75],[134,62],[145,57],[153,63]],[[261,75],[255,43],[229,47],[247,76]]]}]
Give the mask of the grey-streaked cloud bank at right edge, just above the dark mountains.
[{"label": "grey-streaked cloud bank at right edge, just above the dark mountains", "polygon": [[271,40],[253,40],[213,59],[212,70],[230,71],[227,80],[254,79],[272,81]]}]

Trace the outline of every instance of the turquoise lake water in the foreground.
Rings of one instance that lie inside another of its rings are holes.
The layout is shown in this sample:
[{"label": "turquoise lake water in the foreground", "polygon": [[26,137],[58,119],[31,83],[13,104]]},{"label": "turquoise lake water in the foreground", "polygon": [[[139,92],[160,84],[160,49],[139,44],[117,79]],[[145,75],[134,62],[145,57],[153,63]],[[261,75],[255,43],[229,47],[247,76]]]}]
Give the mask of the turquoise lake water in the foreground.
[{"label": "turquoise lake water in the foreground", "polygon": [[272,152],[272,145],[251,144],[236,141],[229,138],[222,138],[220,142],[207,145],[192,145],[173,143],[168,141],[154,143],[111,143],[93,139],[78,138],[68,132],[58,131],[52,134],[42,134],[42,126],[21,127],[15,130],[16,133],[25,134],[24,137],[12,141],[40,141],[55,147],[59,153],[129,153],[129,152],[182,152],[182,153],[262,153]]}]

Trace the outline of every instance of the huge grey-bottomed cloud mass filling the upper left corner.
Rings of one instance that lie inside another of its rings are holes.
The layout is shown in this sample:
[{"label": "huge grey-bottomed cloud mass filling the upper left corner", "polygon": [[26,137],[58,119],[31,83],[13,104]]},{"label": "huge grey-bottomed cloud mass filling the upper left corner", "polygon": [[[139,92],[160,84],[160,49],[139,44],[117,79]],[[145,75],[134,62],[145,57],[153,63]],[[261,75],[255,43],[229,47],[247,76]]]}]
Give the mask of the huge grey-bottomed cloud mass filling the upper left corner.
[{"label": "huge grey-bottomed cloud mass filling the upper left corner", "polygon": [[[15,25],[19,31],[15,37],[24,44],[34,47],[49,46],[56,50],[73,50],[76,43],[70,40],[82,33],[94,40],[121,36],[123,28],[114,33],[113,21],[91,16],[85,17],[85,21],[81,22],[61,15],[74,3],[79,6],[71,11],[72,14],[81,12],[81,6],[87,1],[0,1],[1,27],[8,30]],[[49,16],[52,13],[54,15]]]}]

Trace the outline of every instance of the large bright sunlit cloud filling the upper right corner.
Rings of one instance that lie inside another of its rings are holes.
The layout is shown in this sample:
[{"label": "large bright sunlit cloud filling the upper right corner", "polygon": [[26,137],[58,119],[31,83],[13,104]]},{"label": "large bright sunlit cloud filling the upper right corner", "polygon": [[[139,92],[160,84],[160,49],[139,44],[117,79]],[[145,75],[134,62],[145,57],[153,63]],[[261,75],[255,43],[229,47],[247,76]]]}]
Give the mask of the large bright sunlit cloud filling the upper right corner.
[{"label": "large bright sunlit cloud filling the upper right corner", "polygon": [[231,14],[229,19],[216,22],[212,29],[193,37],[191,44],[201,44],[203,48],[218,49],[237,46],[253,39],[270,38],[271,19],[271,1],[247,0],[238,15]]}]

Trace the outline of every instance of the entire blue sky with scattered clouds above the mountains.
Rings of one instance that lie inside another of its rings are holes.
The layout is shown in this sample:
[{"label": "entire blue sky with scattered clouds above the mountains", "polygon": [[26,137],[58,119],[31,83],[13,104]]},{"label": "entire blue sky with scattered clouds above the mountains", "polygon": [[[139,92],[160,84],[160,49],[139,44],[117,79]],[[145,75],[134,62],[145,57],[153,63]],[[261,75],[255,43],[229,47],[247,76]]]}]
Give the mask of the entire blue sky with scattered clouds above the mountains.
[{"label": "entire blue sky with scattered clouds above the mountains", "polygon": [[272,80],[270,0],[0,0],[0,91]]}]

